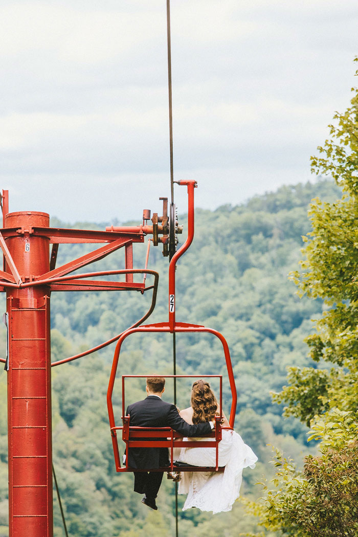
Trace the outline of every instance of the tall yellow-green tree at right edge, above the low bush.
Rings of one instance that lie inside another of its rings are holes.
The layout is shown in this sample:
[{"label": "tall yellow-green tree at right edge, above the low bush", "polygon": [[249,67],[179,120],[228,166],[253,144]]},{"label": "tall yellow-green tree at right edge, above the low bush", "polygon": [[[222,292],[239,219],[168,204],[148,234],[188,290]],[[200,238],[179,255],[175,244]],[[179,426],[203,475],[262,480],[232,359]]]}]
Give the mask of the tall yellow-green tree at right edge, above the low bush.
[{"label": "tall yellow-green tree at right edge, above the low bush", "polygon": [[333,203],[313,200],[305,259],[301,271],[291,274],[301,295],[325,301],[326,311],[306,341],[314,361],[334,364],[290,369],[291,386],[275,400],[286,401],[287,413],[303,421],[328,408],[358,410],[358,90],[353,92],[347,111],[334,115],[332,138],[318,148],[323,156],[312,157],[312,169],[330,173],[344,195]]}]

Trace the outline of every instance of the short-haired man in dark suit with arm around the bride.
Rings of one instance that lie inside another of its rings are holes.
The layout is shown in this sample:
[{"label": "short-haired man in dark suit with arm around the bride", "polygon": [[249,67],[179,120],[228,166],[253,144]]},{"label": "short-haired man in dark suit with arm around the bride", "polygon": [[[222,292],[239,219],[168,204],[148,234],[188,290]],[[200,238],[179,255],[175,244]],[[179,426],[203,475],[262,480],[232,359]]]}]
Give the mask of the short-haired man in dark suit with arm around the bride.
[{"label": "short-haired man in dark suit with arm around the bride", "polygon": [[[213,422],[189,425],[179,416],[178,409],[162,400],[165,379],[162,376],[148,377],[146,391],[148,397],[130,404],[126,416],[130,416],[129,426],[172,427],[185,437],[200,437],[214,429]],[[128,466],[131,468],[160,468],[169,466],[167,447],[132,447],[128,452]],[[163,472],[134,472],[134,491],[144,494],[142,503],[157,510],[155,499],[162,483]]]}]

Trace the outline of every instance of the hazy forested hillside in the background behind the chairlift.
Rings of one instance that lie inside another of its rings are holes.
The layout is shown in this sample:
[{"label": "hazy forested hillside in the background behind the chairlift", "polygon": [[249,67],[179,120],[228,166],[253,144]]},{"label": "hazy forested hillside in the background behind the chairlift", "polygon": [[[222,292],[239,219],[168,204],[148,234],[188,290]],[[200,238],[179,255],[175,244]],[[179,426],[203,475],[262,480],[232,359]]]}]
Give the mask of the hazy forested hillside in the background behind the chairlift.
[{"label": "hazy forested hillside in the background behind the chairlift", "polygon": [[[299,299],[287,276],[297,268],[301,235],[310,230],[307,210],[311,198],[340,197],[328,181],[283,186],[275,193],[250,199],[246,204],[223,206],[216,211],[198,209],[195,238],[179,260],[177,270],[177,320],[205,324],[227,338],[238,389],[236,430],[259,457],[255,470],[244,472],[242,492],[257,497],[255,485],[269,475],[271,448],[291,456],[308,453],[306,427],[284,419],[282,408],[269,392],[280,390],[289,365],[314,366],[303,342],[311,318],[322,312],[322,302]],[[180,217],[185,224],[185,215]],[[53,225],[68,227],[54,220]],[[104,229],[108,224],[76,223],[74,227]],[[184,228],[185,237],[185,228]],[[134,265],[143,268],[146,245],[134,246]],[[60,245],[57,264],[84,253],[82,245]],[[167,259],[152,248],[149,267],[160,273],[157,306],[150,322],[167,318]],[[93,270],[123,268],[119,251],[96,264]],[[148,277],[149,279],[149,277]],[[65,358],[120,333],[149,308],[150,291],[140,293],[53,293],[52,360]],[[3,310],[5,303],[3,301]],[[4,342],[3,342],[4,343]],[[158,537],[173,535],[173,485],[164,482],[158,512],[148,513],[133,492],[131,475],[116,475],[109,434],[106,391],[114,345],[90,357],[53,368],[54,466],[61,489],[71,537]],[[147,335],[126,340],[119,374],[172,372],[172,337]],[[180,372],[225,372],[220,345],[209,335],[177,336]],[[119,383],[118,383],[119,384]],[[128,382],[127,402],[144,397],[144,382]],[[116,411],[120,416],[120,390]],[[8,534],[6,468],[6,373],[0,376],[0,537]],[[171,387],[167,387],[171,400]],[[228,382],[224,383],[225,410],[229,408]],[[180,407],[189,404],[189,384],[179,384]],[[312,448],[310,447],[312,450]],[[301,457],[302,459],[302,457]],[[180,499],[181,503],[182,499]],[[55,536],[64,535],[55,500]],[[231,513],[215,517],[196,509],[181,514],[180,535],[237,537],[254,531],[255,523],[237,502]],[[195,526],[195,529],[194,529]],[[272,534],[273,535],[273,534]]]}]

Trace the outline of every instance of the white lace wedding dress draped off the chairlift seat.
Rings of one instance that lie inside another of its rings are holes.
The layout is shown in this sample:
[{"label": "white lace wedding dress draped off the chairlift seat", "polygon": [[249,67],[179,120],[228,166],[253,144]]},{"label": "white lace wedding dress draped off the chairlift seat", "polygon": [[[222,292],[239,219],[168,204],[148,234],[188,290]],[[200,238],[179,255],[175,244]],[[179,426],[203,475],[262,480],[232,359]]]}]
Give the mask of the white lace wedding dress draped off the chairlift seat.
[{"label": "white lace wedding dress draped off the chairlift seat", "polygon": [[[192,440],[192,439],[191,439]],[[204,440],[204,439],[203,439]],[[198,439],[200,441],[200,439]],[[215,466],[215,447],[182,447],[174,450],[174,460],[193,466]],[[182,472],[179,494],[187,494],[183,511],[198,507],[201,511],[231,511],[239,497],[243,469],[254,468],[257,456],[235,431],[223,430],[218,446],[219,466],[223,472]]]}]

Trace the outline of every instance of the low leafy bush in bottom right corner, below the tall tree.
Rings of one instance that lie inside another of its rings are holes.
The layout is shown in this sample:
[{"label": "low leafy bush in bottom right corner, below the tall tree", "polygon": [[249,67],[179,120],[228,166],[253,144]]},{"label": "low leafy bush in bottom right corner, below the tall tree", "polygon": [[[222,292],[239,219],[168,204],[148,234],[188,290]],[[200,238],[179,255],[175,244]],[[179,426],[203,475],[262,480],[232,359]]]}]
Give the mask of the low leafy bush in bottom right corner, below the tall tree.
[{"label": "low leafy bush in bottom right corner, below the tall tree", "polygon": [[329,419],[312,426],[311,438],[322,440],[320,456],[307,456],[302,473],[276,449],[273,488],[264,484],[261,505],[247,502],[265,527],[295,537],[357,535],[356,416],[335,410]]}]

